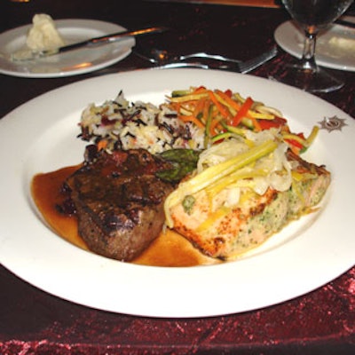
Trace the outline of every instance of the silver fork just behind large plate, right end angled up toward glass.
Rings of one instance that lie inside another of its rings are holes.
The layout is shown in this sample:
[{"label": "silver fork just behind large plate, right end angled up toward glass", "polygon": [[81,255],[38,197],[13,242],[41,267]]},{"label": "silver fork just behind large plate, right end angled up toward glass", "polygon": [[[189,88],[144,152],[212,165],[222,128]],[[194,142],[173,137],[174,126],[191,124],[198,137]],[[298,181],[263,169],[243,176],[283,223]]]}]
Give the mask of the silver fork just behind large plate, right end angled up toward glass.
[{"label": "silver fork just behind large plate, right end angled up toward glass", "polygon": [[246,61],[236,61],[227,62],[225,61],[222,64],[205,64],[201,62],[186,62],[186,61],[177,61],[171,63],[162,63],[161,65],[157,65],[156,68],[177,68],[177,67],[197,67],[201,69],[218,69],[218,70],[225,70],[225,71],[232,71],[236,73],[246,74],[256,67],[262,66],[268,60],[274,58],[277,54],[277,47],[273,46],[270,50],[265,51],[261,55],[253,58],[248,59]]}]

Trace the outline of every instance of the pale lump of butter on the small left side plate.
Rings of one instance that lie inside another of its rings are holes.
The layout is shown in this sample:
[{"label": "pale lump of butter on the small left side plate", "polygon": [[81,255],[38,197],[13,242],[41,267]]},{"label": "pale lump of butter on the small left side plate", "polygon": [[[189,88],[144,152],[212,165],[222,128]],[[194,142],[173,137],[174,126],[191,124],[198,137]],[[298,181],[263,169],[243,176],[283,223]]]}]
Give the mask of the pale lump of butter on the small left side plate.
[{"label": "pale lump of butter on the small left side plate", "polygon": [[50,15],[36,14],[32,22],[33,27],[29,29],[26,40],[29,49],[32,51],[54,50],[65,44]]}]

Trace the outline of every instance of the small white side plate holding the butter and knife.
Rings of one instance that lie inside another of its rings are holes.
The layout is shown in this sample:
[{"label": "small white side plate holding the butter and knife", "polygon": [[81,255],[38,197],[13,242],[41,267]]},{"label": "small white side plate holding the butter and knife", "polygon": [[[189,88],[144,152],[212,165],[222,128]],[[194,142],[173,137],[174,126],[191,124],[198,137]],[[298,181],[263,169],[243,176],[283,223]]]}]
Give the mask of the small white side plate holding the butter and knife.
[{"label": "small white side plate holding the butter and knife", "polygon": [[[56,20],[55,24],[66,44],[126,30],[114,23],[99,20]],[[9,59],[12,53],[25,48],[26,36],[31,26],[14,28],[0,35],[0,73],[35,78],[80,75],[108,67],[124,59],[135,44],[133,37],[127,37],[94,49],[82,48],[42,59],[28,61]]]}]

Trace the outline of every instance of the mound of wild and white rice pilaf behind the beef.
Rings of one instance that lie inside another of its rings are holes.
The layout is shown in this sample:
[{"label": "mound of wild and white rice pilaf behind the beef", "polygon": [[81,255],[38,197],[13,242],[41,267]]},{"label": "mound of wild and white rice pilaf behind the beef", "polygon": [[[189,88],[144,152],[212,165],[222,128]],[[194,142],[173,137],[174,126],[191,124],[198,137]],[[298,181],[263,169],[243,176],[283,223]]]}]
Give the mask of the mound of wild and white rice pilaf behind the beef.
[{"label": "mound of wild and white rice pilaf behind the beef", "polygon": [[181,122],[167,106],[129,102],[122,91],[114,100],[87,106],[80,126],[84,140],[105,139],[107,151],[146,148],[159,154],[171,148],[203,148],[203,129]]}]

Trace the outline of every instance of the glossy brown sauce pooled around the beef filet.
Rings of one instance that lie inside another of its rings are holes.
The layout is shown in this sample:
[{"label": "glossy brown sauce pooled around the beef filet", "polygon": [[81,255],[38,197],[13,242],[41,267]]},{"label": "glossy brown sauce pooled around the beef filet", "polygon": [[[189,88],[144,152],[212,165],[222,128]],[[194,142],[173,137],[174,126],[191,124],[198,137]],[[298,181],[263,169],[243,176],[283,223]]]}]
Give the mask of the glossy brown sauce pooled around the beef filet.
[{"label": "glossy brown sauce pooled around the beef filet", "polygon": [[[56,209],[56,206],[64,200],[63,194],[60,193],[63,181],[78,167],[66,167],[49,173],[37,174],[32,181],[32,196],[44,219],[55,233],[76,247],[89,250],[78,233],[76,217],[63,215]],[[181,235],[168,230],[161,233],[132,263],[151,266],[195,266],[219,262],[203,256]]]}]

